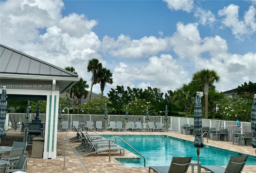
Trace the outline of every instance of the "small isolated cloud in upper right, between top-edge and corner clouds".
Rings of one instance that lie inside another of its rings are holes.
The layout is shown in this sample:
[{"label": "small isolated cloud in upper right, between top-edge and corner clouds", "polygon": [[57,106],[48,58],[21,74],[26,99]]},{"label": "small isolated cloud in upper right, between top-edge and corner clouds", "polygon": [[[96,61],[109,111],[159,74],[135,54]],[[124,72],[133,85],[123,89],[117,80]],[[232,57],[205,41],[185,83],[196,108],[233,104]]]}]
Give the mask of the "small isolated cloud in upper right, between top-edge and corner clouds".
[{"label": "small isolated cloud in upper right, between top-edge and corner clouds", "polygon": [[212,25],[212,23],[216,21],[214,14],[212,14],[210,10],[206,11],[202,8],[197,8],[194,16],[199,18],[199,23],[202,25]]}]

